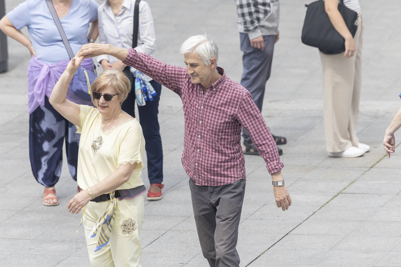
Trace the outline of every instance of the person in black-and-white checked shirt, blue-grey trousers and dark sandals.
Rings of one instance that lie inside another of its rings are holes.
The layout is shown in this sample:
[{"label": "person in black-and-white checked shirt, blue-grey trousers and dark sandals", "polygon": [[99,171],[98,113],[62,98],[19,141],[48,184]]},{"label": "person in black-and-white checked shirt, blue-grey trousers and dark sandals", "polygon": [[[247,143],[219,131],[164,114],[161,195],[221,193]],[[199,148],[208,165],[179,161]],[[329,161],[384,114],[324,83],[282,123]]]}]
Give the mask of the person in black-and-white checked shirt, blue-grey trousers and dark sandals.
[{"label": "person in black-and-white checked shirt, blue-grey trousers and dark sandals", "polygon": [[[241,85],[251,92],[253,102],[262,110],[266,82],[270,77],[274,44],[279,39],[279,0],[235,0],[240,46],[243,51]],[[249,133],[242,128],[244,154],[259,155]],[[273,135],[277,145],[287,139]],[[282,149],[278,148],[279,155]]]}]

